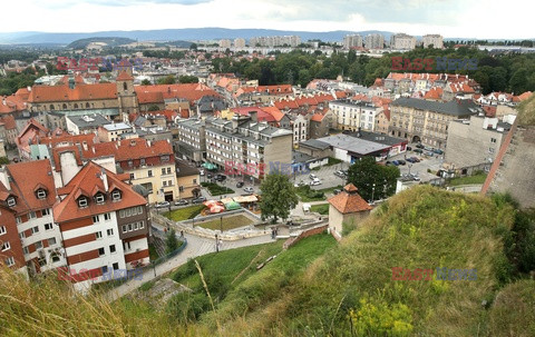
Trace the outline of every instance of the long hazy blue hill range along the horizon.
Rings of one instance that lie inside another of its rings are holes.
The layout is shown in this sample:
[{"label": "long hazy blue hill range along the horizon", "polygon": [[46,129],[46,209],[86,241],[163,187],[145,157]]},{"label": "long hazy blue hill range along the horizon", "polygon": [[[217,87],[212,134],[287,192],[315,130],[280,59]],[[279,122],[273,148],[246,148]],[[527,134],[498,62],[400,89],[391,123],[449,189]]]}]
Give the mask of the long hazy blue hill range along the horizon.
[{"label": "long hazy blue hill range along the horizon", "polygon": [[389,31],[291,31],[274,29],[226,29],[226,28],[185,28],[162,30],[133,30],[133,31],[99,31],[87,33],[58,33],[58,32],[17,32],[1,33],[0,43],[62,43],[69,44],[80,39],[89,38],[128,38],[138,41],[177,41],[177,40],[217,40],[217,39],[250,39],[262,36],[300,36],[302,41],[320,39],[322,41],[342,41],[349,33],[382,33],[388,39]]}]

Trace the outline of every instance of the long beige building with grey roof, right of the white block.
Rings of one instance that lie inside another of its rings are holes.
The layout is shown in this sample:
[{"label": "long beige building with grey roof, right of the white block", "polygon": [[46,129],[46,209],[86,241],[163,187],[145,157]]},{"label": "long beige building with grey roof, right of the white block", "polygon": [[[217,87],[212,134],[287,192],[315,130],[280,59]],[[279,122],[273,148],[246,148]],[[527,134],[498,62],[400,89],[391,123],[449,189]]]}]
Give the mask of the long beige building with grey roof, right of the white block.
[{"label": "long beige building with grey roof, right of the white block", "polygon": [[399,98],[390,103],[389,135],[444,149],[449,123],[479,112],[483,109],[469,100],[439,102]]}]

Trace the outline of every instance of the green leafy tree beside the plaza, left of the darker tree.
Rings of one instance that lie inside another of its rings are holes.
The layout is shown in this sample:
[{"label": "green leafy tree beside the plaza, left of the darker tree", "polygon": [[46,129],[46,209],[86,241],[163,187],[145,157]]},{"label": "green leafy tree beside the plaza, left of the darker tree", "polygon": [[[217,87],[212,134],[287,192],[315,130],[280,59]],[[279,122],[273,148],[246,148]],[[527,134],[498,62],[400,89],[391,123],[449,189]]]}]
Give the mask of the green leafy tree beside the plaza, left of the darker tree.
[{"label": "green leafy tree beside the plaza, left of the darker tree", "polygon": [[295,188],[289,177],[280,172],[268,175],[260,186],[260,190],[262,191],[262,201],[260,202],[262,219],[273,217],[273,224],[279,218],[286,219],[290,210],[299,202]]}]

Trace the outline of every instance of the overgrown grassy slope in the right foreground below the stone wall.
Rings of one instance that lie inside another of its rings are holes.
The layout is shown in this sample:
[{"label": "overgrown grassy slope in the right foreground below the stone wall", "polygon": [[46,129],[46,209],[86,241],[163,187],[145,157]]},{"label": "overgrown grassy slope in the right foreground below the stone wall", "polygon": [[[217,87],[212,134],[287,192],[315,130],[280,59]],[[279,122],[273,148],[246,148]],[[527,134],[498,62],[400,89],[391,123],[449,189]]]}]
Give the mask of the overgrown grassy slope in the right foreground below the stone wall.
[{"label": "overgrown grassy slope in the right foreground below the stone wall", "polygon": [[[503,258],[497,232],[509,228],[512,220],[509,208],[497,209],[479,196],[410,189],[393,197],[362,230],[309,268],[305,277],[278,289],[284,295],[260,296],[270,301],[249,306],[250,318],[234,317],[226,325],[232,327],[228,330],[240,327],[253,335],[305,335],[305,330],[350,335],[348,314],[366,309],[361,300],[367,298],[374,307],[387,304],[382,314],[387,316],[397,304],[405,305],[410,318],[400,321],[412,333],[486,335],[492,326],[480,304],[496,295]],[[477,268],[477,280],[393,281],[392,267]],[[242,304],[239,313],[247,313],[247,306]],[[353,321],[358,324],[366,326]]]}]

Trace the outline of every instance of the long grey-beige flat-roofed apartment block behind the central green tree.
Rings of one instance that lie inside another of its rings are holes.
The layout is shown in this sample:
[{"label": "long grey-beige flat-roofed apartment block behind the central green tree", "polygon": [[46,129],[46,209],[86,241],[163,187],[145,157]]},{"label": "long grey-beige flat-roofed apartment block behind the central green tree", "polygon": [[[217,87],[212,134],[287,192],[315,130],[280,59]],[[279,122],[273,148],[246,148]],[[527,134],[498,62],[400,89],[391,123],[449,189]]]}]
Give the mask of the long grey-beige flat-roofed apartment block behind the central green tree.
[{"label": "long grey-beige flat-roofed apartment block behind the central green tree", "polygon": [[292,132],[259,122],[256,112],[206,126],[206,160],[237,176],[262,180],[264,169],[292,162]]}]

